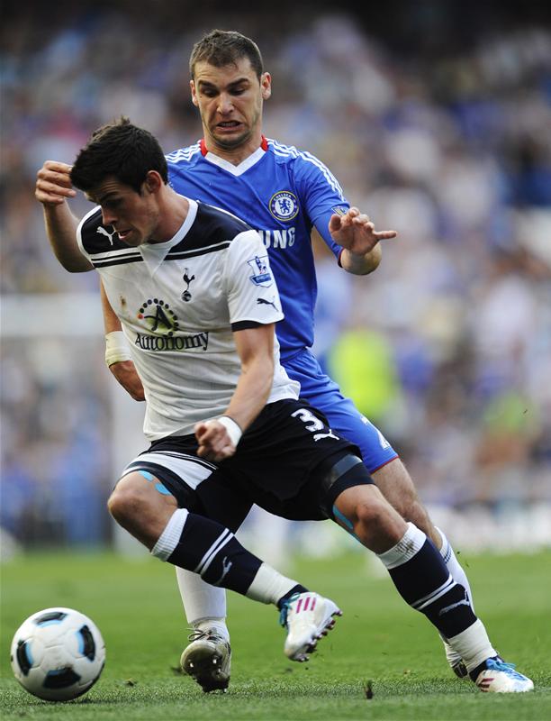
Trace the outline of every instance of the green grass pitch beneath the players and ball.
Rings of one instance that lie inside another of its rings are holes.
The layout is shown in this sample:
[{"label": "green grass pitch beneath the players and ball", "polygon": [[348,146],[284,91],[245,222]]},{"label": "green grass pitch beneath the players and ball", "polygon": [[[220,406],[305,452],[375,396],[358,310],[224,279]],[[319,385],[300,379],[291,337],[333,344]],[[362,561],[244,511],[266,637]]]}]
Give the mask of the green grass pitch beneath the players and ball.
[{"label": "green grass pitch beneath the players and ball", "polygon": [[[299,560],[289,572],[344,610],[308,664],[288,662],[276,611],[229,594],[233,669],[226,694],[205,695],[178,674],[185,620],[174,570],[111,554],[27,555],[2,573],[0,716],[8,719],[551,718],[551,552],[463,557],[479,616],[500,653],[536,684],[530,694],[487,695],[451,675],[438,635],[406,607],[366,555]],[[104,634],[107,663],[86,696],[51,704],[14,680],[9,644],[34,611],[75,607]],[[366,685],[373,698],[366,698]]]}]

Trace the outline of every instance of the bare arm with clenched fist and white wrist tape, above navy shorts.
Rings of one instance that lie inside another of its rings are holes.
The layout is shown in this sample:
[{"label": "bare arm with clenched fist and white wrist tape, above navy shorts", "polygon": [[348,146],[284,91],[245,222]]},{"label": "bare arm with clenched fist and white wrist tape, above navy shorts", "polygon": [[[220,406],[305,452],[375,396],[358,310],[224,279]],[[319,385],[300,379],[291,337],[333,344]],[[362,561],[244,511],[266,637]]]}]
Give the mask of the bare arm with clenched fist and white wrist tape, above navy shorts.
[{"label": "bare arm with clenched fist and white wrist tape, above navy shorts", "polygon": [[221,418],[195,425],[198,455],[208,461],[230,458],[239,438],[266,406],[274,382],[274,324],[233,333],[241,375]]}]

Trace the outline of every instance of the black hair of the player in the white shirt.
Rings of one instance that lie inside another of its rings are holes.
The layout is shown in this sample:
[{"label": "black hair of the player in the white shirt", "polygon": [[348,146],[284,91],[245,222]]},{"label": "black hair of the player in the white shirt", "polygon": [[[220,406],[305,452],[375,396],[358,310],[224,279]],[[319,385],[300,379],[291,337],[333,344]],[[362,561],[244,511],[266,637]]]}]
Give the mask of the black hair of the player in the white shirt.
[{"label": "black hair of the player in the white shirt", "polygon": [[149,170],[168,182],[167,159],[157,138],[121,117],[92,133],[73,164],[71,182],[86,192],[113,176],[140,193]]}]

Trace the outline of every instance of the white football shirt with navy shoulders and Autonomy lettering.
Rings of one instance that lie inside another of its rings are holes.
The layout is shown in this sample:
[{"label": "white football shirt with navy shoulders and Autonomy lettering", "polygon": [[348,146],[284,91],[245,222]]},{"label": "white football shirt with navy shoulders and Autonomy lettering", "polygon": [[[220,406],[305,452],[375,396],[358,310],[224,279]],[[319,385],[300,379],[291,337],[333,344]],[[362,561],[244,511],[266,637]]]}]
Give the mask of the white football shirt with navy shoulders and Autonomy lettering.
[{"label": "white football shirt with navy shoulders and Autonomy lettering", "polygon": [[[100,273],[132,349],[147,402],[149,440],[191,434],[222,415],[240,361],[233,331],[284,315],[266,248],[239,218],[189,199],[189,212],[167,242],[126,245],[95,207],[77,241]],[[268,403],[296,398],[300,384],[279,362]]]}]

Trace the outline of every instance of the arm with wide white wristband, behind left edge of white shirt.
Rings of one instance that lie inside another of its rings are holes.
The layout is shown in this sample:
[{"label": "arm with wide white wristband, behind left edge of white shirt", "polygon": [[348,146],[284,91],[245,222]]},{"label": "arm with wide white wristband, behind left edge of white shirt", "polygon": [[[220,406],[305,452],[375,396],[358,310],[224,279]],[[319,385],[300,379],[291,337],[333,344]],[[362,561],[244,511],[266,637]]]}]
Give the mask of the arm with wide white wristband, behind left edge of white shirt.
[{"label": "arm with wide white wristband, behind left edge of white shirt", "polygon": [[122,324],[109,302],[100,280],[100,297],[102,299],[102,313],[104,315],[105,329],[105,362],[122,388],[134,400],[145,400],[143,386],[138,371],[131,360],[128,342],[122,333]]}]

